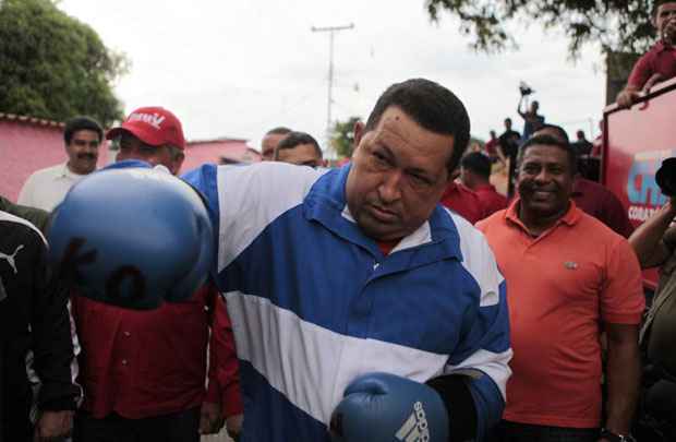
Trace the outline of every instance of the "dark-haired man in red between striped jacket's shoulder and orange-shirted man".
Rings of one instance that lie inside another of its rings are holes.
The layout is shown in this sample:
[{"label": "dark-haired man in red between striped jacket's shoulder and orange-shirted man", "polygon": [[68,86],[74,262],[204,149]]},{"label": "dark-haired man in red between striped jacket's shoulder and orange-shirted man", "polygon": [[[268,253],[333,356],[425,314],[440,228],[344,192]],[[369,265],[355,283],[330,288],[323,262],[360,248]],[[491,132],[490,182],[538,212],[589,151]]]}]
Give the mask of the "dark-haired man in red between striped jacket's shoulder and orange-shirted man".
[{"label": "dark-haired man in red between striped jacket's shoulder and orange-shirted man", "polygon": [[460,160],[460,181],[479,196],[484,216],[507,207],[507,198],[491,184],[491,160],[483,154],[467,154]]}]

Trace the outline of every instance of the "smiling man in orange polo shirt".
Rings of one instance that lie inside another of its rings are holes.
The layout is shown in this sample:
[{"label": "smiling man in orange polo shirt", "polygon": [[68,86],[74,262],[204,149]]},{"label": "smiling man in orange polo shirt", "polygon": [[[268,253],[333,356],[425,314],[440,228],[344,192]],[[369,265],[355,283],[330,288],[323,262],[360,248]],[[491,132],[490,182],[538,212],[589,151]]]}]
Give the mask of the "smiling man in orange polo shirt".
[{"label": "smiling man in orange polo shirt", "polygon": [[[515,357],[502,442],[632,440],[644,307],[640,268],[625,238],[571,201],[575,167],[568,143],[530,139],[519,152],[520,198],[478,224],[509,297]],[[605,422],[602,328],[608,339]]]}]

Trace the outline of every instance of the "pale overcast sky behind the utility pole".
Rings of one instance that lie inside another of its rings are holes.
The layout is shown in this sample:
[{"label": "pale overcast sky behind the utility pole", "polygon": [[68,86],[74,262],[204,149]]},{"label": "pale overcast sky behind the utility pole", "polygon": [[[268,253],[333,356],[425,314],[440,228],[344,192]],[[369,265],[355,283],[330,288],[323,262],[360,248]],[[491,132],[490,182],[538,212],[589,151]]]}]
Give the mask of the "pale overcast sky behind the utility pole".
[{"label": "pale overcast sky behind the utility pole", "polygon": [[354,23],[335,37],[334,120],[367,117],[389,84],[413,76],[456,93],[480,138],[499,133],[506,116],[521,128],[520,80],[536,91],[547,121],[569,132],[589,132],[605,103],[597,48],[572,63],[560,33],[519,24],[519,50],[476,53],[454,17],[431,23],[423,0],[63,0],[60,8],[130,58],[116,85],[125,112],[165,106],[190,140],[244,138],[258,148],[266,130],[288,126],[323,143],[329,38],[312,26]]}]

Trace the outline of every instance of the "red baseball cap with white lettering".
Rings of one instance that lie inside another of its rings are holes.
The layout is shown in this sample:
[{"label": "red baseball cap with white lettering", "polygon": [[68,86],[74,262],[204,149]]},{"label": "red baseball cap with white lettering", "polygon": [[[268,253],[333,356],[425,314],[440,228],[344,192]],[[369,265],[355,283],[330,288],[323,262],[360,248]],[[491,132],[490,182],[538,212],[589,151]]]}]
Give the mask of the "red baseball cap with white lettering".
[{"label": "red baseball cap with white lettering", "polygon": [[134,110],[122,126],[110,129],[106,139],[112,140],[124,131],[152,146],[170,144],[181,151],[185,150],[181,122],[164,107],[141,107]]}]

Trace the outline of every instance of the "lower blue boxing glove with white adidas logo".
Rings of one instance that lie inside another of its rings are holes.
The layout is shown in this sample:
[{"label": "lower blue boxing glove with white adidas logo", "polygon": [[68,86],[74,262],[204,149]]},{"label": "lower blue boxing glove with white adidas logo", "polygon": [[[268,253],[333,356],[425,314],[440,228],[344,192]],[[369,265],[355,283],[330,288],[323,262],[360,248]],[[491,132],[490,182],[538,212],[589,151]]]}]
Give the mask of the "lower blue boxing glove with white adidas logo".
[{"label": "lower blue boxing glove with white adidas logo", "polygon": [[357,378],[331,415],[335,442],[447,442],[448,414],[432,387],[388,373]]}]

